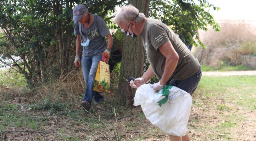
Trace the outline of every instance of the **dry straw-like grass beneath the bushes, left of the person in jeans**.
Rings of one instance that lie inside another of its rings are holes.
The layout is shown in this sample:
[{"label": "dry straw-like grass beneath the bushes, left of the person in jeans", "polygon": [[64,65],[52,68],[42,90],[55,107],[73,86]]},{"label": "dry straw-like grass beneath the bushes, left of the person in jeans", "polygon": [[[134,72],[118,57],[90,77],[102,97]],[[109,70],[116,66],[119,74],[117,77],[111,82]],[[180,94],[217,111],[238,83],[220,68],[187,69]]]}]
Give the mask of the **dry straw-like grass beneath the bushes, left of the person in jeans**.
[{"label": "dry straw-like grass beneath the bushes, left of the person in jeans", "polygon": [[77,96],[82,96],[85,89],[85,82],[82,69],[73,70],[61,76],[58,80],[43,84],[39,87],[28,89],[26,86],[0,86],[1,98],[10,100],[13,98],[25,98],[30,102],[50,98],[67,100]]}]

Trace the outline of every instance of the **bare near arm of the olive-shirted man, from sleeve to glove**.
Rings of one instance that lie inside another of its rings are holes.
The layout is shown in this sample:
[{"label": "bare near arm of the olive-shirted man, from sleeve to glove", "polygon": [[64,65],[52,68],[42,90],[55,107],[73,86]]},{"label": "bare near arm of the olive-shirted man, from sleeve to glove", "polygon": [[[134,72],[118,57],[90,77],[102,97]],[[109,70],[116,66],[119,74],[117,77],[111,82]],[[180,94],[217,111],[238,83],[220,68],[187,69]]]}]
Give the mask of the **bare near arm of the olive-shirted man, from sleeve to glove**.
[{"label": "bare near arm of the olive-shirted man, from sleeve to glove", "polygon": [[165,69],[160,80],[160,85],[164,85],[170,79],[173,72],[175,71],[175,68],[179,60],[179,55],[173,48],[172,43],[170,41],[165,42],[158,49],[166,58]]}]

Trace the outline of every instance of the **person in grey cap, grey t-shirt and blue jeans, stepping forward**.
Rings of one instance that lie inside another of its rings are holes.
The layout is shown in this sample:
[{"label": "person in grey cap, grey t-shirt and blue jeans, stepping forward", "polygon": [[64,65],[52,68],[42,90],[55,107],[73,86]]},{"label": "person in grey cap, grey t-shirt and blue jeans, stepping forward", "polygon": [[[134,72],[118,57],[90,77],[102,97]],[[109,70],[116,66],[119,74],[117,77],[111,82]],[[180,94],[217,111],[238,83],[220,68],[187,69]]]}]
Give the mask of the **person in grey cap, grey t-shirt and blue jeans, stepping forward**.
[{"label": "person in grey cap, grey t-shirt and blue jeans, stepping forward", "polygon": [[[89,111],[92,98],[95,103],[104,100],[99,92],[93,90],[94,79],[98,67],[98,61],[110,57],[113,37],[106,26],[105,21],[98,15],[90,14],[85,5],[76,5],[73,9],[74,35],[76,35],[76,67],[82,66],[86,88],[81,105]],[[105,41],[108,38],[108,43]],[[83,46],[82,59],[80,50]],[[81,62],[81,63],[80,63]]]}]

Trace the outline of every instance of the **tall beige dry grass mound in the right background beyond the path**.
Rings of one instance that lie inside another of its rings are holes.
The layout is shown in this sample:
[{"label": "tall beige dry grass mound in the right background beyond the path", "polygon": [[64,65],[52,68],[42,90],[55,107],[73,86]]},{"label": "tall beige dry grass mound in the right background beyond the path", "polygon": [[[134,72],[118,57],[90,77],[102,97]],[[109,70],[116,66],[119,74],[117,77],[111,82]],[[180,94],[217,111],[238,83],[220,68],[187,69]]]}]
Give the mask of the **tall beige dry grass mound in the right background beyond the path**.
[{"label": "tall beige dry grass mound in the right background beyond the path", "polygon": [[255,27],[244,21],[223,21],[221,31],[200,32],[206,50],[197,48],[196,58],[203,65],[219,68],[223,64],[246,65],[243,55],[256,55]]}]

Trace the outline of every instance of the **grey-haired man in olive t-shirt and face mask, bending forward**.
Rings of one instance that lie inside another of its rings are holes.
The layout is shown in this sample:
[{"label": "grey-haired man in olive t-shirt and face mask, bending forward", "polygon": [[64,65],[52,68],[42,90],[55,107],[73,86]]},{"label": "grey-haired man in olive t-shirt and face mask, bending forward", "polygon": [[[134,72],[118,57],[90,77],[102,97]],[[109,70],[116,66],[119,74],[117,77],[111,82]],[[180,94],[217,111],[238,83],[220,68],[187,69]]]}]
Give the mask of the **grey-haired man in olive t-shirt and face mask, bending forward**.
[{"label": "grey-haired man in olive t-shirt and face mask, bending forward", "polygon": [[[143,76],[130,82],[131,87],[138,88],[156,75],[159,82],[153,84],[155,92],[165,85],[173,85],[190,95],[194,93],[201,79],[201,65],[167,25],[146,18],[132,5],[123,6],[114,21],[126,35],[133,38],[141,36],[150,62]],[[169,139],[190,141],[188,134],[183,137],[169,135]]]}]

